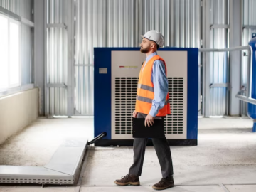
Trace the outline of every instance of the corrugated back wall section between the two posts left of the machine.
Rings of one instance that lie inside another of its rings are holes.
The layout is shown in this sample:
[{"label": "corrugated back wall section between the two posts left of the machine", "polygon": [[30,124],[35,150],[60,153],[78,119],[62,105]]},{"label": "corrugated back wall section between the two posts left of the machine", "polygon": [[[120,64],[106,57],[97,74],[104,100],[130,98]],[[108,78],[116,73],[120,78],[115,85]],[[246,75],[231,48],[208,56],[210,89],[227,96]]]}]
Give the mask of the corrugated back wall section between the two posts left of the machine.
[{"label": "corrugated back wall section between the two posts left of the machine", "polygon": [[[65,1],[47,0],[47,24],[65,23]],[[65,28],[51,27],[46,31],[47,84],[67,85],[68,51],[67,31]],[[67,89],[48,87],[48,115],[67,114]]]}]

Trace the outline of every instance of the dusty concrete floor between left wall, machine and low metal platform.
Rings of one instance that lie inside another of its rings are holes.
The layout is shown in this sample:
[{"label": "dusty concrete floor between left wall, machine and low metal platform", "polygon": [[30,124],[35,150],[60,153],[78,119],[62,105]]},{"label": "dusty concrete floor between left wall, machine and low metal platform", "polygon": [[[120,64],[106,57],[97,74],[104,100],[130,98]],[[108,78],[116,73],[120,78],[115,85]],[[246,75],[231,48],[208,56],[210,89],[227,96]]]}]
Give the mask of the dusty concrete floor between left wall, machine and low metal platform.
[{"label": "dusty concrete floor between left wall, machine and low metal platform", "polygon": [[93,118],[38,119],[0,145],[0,165],[44,166],[65,138],[89,137]]}]

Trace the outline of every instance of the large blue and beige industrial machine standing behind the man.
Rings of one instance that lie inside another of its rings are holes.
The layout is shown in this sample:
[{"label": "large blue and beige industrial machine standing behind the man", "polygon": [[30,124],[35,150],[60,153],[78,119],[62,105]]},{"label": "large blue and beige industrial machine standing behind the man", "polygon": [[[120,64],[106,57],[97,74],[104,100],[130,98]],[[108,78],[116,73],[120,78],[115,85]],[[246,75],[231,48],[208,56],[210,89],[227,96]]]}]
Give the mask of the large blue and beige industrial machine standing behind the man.
[{"label": "large blue and beige industrial machine standing behind the man", "polygon": [[[146,55],[140,48],[94,49],[95,146],[131,146],[132,112]],[[159,48],[167,66],[171,114],[164,119],[170,145],[197,145],[198,48]],[[151,145],[149,138],[148,145]]]}]

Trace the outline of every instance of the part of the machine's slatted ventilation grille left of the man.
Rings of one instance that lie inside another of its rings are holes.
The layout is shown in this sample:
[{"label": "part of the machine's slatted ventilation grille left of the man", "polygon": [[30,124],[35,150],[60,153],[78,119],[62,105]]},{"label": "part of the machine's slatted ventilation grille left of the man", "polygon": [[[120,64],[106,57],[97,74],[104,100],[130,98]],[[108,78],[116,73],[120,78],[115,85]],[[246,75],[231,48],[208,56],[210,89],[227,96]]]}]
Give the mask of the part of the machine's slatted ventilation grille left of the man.
[{"label": "part of the machine's slatted ventilation grille left of the man", "polygon": [[132,134],[139,78],[115,78],[115,134]]}]

